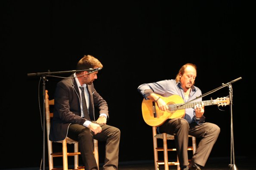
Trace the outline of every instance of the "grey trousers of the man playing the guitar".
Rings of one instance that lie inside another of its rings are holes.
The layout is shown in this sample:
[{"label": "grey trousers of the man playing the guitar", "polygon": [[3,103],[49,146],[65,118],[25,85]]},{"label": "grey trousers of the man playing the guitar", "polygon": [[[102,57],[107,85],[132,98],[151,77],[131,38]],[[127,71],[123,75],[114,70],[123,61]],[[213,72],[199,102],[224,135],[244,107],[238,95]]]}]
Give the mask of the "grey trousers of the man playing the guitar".
[{"label": "grey trousers of the man playing the guitar", "polygon": [[163,125],[160,125],[159,131],[174,135],[180,167],[188,165],[188,135],[200,138],[191,161],[204,167],[219,136],[220,128],[213,123],[205,122],[197,125],[197,123],[192,122],[188,124],[185,119],[175,118],[167,119]]}]

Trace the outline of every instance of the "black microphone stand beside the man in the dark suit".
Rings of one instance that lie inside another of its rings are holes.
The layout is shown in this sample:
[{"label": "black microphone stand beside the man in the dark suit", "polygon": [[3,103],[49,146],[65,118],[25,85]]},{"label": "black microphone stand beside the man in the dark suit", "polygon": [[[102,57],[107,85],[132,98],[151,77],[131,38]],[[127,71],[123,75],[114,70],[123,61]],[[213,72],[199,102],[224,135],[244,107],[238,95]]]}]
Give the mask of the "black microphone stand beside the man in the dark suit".
[{"label": "black microphone stand beside the man in the dark suit", "polygon": [[62,73],[75,73],[75,72],[82,72],[82,71],[89,71],[89,72],[95,72],[100,70],[101,68],[98,69],[86,69],[86,70],[72,70],[72,71],[64,71],[64,72],[42,72],[42,73],[28,73],[28,76],[41,76],[43,80],[43,170],[45,170],[45,81],[47,75],[53,75],[53,74],[62,74]]}]

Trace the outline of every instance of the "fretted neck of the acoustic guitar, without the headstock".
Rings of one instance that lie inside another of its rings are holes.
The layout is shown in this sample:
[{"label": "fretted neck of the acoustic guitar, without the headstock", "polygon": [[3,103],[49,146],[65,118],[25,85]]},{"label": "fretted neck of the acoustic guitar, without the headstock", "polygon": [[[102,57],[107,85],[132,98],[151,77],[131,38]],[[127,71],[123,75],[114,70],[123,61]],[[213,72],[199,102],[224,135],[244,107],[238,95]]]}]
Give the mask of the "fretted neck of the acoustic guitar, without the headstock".
[{"label": "fretted neck of the acoustic guitar, without the headstock", "polygon": [[189,103],[181,103],[181,104],[170,104],[168,107],[173,110],[180,110],[180,109],[187,109],[187,108],[192,108],[196,104],[202,104],[204,102],[204,106],[209,106],[209,105],[214,105],[215,102],[213,100],[206,100],[206,101],[194,101],[194,102],[189,102]]}]

